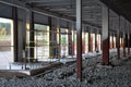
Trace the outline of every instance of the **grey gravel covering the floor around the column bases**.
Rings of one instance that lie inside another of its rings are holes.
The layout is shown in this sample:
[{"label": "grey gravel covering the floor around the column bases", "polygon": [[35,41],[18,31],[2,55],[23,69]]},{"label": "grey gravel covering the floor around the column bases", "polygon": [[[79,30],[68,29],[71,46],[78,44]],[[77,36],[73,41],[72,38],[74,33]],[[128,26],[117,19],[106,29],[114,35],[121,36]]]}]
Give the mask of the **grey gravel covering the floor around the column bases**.
[{"label": "grey gravel covering the floor around the column bases", "polygon": [[83,61],[83,79],[76,79],[75,66],[64,65],[40,77],[1,77],[0,87],[131,87],[131,59],[118,62],[110,55],[110,65],[100,65],[102,55]]}]

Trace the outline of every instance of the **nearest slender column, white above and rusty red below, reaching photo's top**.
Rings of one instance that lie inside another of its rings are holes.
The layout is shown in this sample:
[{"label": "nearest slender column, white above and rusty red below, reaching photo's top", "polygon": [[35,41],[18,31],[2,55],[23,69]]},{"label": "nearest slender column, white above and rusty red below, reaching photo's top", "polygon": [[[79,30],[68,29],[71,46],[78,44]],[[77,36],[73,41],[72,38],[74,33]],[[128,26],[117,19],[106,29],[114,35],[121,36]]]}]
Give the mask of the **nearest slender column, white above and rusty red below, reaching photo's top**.
[{"label": "nearest slender column, white above and rusty red below, reaching photo's top", "polygon": [[76,77],[82,80],[82,0],[76,0]]}]

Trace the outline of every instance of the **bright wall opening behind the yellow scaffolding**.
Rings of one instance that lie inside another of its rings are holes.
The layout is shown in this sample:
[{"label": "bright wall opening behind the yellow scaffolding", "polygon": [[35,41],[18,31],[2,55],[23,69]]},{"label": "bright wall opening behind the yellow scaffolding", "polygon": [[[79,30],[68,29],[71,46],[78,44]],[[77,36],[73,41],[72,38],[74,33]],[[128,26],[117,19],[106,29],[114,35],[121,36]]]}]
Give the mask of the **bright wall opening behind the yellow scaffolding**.
[{"label": "bright wall opening behind the yellow scaffolding", "polygon": [[35,58],[49,58],[49,26],[35,24]]}]

